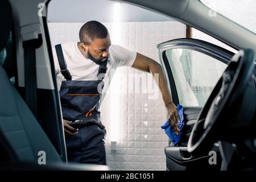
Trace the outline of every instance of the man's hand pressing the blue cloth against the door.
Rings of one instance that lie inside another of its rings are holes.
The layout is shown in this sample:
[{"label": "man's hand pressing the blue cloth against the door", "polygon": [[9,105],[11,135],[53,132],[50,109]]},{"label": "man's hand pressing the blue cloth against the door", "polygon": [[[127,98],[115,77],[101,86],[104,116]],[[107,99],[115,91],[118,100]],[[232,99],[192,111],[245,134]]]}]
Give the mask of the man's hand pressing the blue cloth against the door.
[{"label": "man's hand pressing the blue cloth against the door", "polygon": [[177,107],[174,105],[173,102],[167,105],[167,119],[170,122],[172,129],[174,130],[175,134],[179,134],[180,127],[177,125],[177,122],[180,122],[179,114],[177,113]]}]

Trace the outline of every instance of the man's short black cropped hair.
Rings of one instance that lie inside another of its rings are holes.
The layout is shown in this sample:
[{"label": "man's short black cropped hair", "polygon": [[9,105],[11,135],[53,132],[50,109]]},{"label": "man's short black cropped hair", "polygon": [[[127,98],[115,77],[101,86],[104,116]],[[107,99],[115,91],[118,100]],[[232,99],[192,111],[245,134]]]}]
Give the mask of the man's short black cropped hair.
[{"label": "man's short black cropped hair", "polygon": [[86,22],[79,31],[79,39],[81,43],[89,45],[95,39],[104,39],[108,36],[108,29],[100,22]]}]

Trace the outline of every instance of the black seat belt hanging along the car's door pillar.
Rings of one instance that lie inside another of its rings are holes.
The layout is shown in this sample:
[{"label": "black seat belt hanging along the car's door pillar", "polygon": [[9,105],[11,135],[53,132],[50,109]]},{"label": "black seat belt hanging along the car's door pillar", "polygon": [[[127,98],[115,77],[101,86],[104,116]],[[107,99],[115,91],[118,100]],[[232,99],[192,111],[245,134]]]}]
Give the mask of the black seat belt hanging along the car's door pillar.
[{"label": "black seat belt hanging along the car's door pillar", "polygon": [[36,48],[42,45],[42,34],[38,38],[23,41],[25,99],[28,107],[37,117]]}]

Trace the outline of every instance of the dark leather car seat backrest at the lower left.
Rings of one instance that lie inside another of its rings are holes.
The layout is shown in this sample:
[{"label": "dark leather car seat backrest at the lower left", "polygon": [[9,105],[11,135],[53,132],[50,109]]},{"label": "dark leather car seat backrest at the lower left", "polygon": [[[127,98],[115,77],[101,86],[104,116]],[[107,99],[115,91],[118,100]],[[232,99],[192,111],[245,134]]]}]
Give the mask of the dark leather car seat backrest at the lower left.
[{"label": "dark leather car seat backrest at the lower left", "polygon": [[38,152],[45,151],[47,160],[60,162],[42,127],[0,67],[0,129],[18,159],[37,162]]}]

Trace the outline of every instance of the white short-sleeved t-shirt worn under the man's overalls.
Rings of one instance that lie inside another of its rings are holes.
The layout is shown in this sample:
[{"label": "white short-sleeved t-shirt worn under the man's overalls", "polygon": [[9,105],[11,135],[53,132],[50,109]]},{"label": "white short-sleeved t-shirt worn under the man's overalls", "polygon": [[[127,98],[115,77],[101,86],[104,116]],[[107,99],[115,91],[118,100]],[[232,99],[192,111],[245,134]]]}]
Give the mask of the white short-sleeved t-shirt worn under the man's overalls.
[{"label": "white short-sleeved t-shirt worn under the man's overalls", "polygon": [[[99,65],[90,59],[85,59],[77,47],[77,42],[68,42],[61,44],[67,69],[72,75],[72,80],[97,80]],[[60,65],[57,59],[56,49],[52,48],[53,60],[55,64],[55,72],[57,77],[57,87],[60,90],[61,82],[65,80],[64,76],[60,73]],[[136,59],[137,52],[129,51],[126,48],[117,45],[109,47],[109,60],[107,64],[107,72],[104,82],[110,81],[113,73],[118,67],[131,67]],[[111,72],[111,74],[110,74]],[[101,94],[101,102],[105,97],[109,84],[104,85],[104,90]]]}]

